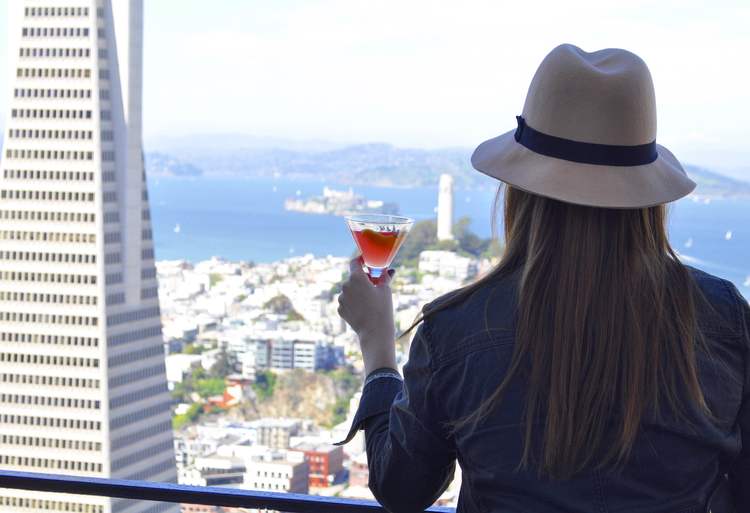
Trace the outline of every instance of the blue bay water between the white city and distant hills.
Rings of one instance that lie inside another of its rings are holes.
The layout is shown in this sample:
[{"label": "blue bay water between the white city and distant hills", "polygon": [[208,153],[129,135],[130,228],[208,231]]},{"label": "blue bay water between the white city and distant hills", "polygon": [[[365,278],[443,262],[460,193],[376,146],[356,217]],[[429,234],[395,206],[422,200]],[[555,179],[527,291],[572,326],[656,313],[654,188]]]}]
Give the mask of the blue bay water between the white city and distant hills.
[{"label": "blue bay water between the white city and distant hills", "polygon": [[[289,256],[346,256],[354,247],[344,222],[335,216],[284,210],[284,199],[319,195],[323,182],[284,180],[158,179],[149,181],[157,259],[199,261],[211,256],[270,262]],[[437,187],[355,187],[369,199],[394,201],[403,215],[434,217]],[[455,191],[456,218],[469,216],[472,229],[489,236],[495,190]],[[179,233],[175,226],[180,225]],[[731,231],[731,238],[726,234]],[[670,212],[670,236],[677,251],[696,267],[729,279],[745,296],[750,287],[750,200],[681,200]],[[686,242],[692,239],[692,246]]]}]

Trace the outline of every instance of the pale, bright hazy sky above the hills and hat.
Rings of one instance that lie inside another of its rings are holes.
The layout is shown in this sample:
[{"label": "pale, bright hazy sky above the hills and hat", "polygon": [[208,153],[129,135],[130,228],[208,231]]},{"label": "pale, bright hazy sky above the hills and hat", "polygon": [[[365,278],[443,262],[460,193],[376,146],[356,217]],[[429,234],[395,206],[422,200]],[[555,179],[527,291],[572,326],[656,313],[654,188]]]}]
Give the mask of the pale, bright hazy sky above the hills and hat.
[{"label": "pale, bright hazy sky above the hills and hat", "polygon": [[[0,27],[16,1],[0,0]],[[147,146],[240,133],[473,147],[515,126],[539,62],[567,42],[639,54],[656,86],[657,141],[750,178],[747,0],[144,3]]]}]

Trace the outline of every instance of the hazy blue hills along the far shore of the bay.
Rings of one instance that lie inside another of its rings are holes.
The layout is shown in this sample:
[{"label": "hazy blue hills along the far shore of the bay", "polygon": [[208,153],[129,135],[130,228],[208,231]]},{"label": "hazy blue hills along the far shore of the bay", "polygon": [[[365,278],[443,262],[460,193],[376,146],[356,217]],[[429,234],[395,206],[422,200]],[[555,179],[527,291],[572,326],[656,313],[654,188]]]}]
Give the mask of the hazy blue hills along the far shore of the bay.
[{"label": "hazy blue hills along the far shore of the bay", "polygon": [[[192,140],[192,144],[187,141]],[[179,157],[148,153],[149,173],[167,176],[224,178],[283,177],[320,180],[345,185],[421,187],[435,185],[441,173],[450,173],[461,187],[482,187],[492,180],[470,164],[471,150],[397,148],[369,143],[336,146],[331,143],[298,143],[217,136],[172,141],[168,146]],[[264,146],[264,144],[277,144]],[[688,175],[707,196],[750,196],[750,182],[708,169],[686,165]]]}]

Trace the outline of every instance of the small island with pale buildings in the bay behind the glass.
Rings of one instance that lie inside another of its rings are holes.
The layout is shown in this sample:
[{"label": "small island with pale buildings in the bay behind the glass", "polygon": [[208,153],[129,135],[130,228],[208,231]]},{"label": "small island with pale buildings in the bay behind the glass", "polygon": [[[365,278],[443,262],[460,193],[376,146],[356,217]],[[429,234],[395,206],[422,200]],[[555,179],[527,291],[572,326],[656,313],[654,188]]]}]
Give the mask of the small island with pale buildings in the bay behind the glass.
[{"label": "small island with pale buildings in the bay behind the glass", "polygon": [[322,196],[306,199],[289,198],[284,201],[284,208],[306,214],[398,214],[396,203],[368,200],[364,196],[355,194],[351,188],[347,191],[338,191],[323,187]]}]

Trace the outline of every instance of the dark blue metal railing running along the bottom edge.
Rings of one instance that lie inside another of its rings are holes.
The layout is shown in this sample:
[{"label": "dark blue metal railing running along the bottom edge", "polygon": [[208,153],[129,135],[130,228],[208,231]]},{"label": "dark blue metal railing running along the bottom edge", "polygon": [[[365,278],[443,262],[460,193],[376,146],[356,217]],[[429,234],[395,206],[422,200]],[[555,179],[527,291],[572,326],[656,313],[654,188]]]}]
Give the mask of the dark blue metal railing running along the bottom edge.
[{"label": "dark blue metal railing running along the bottom edge", "polygon": [[[386,512],[377,502],[359,499],[7,470],[0,470],[0,488],[294,513]],[[454,513],[452,508],[444,507],[432,507],[427,511]]]}]

